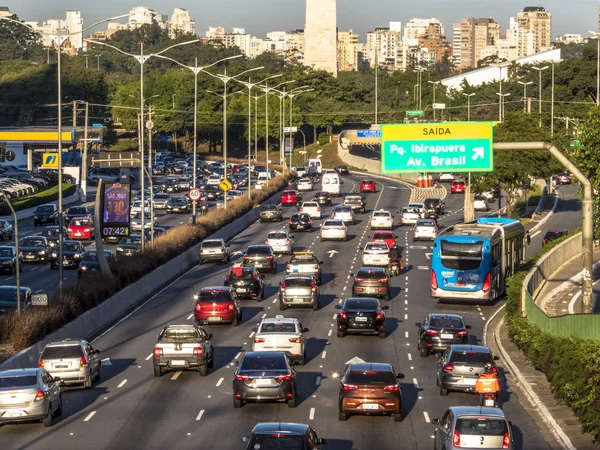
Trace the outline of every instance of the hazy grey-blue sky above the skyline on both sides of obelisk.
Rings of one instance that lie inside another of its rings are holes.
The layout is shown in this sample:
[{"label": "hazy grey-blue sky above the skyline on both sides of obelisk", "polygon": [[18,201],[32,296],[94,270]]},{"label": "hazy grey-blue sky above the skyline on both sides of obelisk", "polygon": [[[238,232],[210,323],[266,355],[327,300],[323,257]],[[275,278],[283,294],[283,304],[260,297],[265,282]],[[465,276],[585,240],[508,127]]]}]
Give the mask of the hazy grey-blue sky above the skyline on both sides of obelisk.
[{"label": "hazy grey-blue sky above the skyline on both sides of obelisk", "polygon": [[[599,0],[545,0],[523,2],[516,0],[338,0],[337,20],[340,31],[353,29],[361,42],[366,41],[367,31],[389,22],[403,24],[413,17],[436,17],[445,27],[446,37],[452,38],[452,24],[461,17],[491,17],[508,27],[509,18],[525,6],[541,5],[552,13],[552,35],[598,31]],[[268,31],[289,31],[304,28],[304,0],[18,0],[8,2],[10,11],[21,20],[42,22],[46,19],[64,18],[65,11],[81,11],[85,25],[121,14],[127,14],[134,6],[148,6],[159,14],[169,17],[174,7],[184,8],[196,20],[196,32],[204,36],[208,26],[246,28],[248,33],[265,37]],[[99,26],[99,28],[106,28]]]}]

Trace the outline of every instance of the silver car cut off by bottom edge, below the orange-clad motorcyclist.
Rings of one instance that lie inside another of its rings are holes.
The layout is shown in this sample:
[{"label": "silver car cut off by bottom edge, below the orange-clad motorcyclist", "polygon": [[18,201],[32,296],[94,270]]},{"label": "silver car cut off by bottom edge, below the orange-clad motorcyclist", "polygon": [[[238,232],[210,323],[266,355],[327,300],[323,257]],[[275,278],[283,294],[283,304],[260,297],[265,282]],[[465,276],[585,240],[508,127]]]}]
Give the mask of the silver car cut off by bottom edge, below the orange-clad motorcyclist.
[{"label": "silver car cut off by bottom edge, below the orange-clad motorcyclist", "polygon": [[510,422],[500,408],[451,406],[436,425],[434,450],[514,449]]}]

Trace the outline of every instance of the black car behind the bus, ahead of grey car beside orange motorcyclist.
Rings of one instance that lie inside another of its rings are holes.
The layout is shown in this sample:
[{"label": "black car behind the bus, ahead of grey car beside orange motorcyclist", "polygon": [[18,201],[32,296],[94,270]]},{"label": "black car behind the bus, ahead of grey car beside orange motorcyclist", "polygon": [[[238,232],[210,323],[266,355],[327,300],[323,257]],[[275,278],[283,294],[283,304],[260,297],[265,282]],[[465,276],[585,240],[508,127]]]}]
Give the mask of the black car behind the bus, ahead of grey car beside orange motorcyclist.
[{"label": "black car behind the bus, ahead of grey car beside orange motorcyclist", "polygon": [[428,314],[419,327],[418,348],[421,357],[443,352],[451,345],[468,344],[471,327],[458,314]]}]

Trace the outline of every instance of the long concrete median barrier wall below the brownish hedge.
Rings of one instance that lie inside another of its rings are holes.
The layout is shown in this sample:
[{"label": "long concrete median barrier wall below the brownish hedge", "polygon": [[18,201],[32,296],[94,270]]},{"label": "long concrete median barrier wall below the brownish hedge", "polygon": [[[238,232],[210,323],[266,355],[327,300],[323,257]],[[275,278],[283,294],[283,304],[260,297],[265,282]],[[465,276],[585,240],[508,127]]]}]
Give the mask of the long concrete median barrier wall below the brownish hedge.
[{"label": "long concrete median barrier wall below the brownish hedge", "polygon": [[[284,189],[286,188],[287,187]],[[262,204],[278,204],[279,200],[280,196],[276,193]],[[242,217],[224,226],[219,231],[212,234],[210,238],[229,241],[256,222],[259,218],[259,214],[260,206],[253,208]],[[135,309],[151,295],[167,286],[194,265],[198,264],[199,249],[200,244],[197,244],[186,250],[168,263],[158,267],[148,275],[140,278],[135,283],[106,299],[100,305],[86,311],[61,329],[46,336],[33,346],[10,357],[0,364],[0,369],[7,370],[23,367],[36,367],[39,355],[48,342],[59,341],[65,338],[85,339],[97,335],[102,330],[115,323],[119,318]]]}]

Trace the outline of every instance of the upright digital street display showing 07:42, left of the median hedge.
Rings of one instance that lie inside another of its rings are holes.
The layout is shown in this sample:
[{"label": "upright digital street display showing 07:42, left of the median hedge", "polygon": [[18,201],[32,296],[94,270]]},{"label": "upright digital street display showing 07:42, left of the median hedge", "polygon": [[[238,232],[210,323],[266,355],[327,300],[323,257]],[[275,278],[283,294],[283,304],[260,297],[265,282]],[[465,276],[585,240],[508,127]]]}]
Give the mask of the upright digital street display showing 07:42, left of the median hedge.
[{"label": "upright digital street display showing 07:42, left of the median hedge", "polygon": [[131,184],[102,185],[102,237],[129,236],[130,205]]}]

